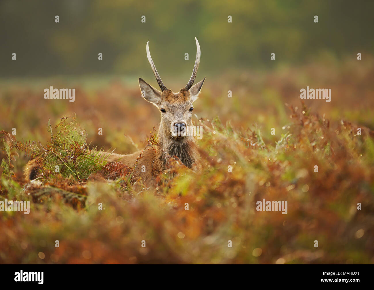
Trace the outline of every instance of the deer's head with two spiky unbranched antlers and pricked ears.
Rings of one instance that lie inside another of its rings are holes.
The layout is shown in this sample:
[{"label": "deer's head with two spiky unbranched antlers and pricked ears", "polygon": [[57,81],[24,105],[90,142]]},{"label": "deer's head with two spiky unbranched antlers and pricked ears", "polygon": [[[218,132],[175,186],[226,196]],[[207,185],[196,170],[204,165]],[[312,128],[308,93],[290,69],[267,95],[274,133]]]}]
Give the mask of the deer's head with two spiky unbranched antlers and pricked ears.
[{"label": "deer's head with two spiky unbranched antlers and pricked ears", "polygon": [[163,138],[183,140],[188,136],[189,126],[192,125],[191,117],[193,111],[192,103],[196,101],[200,89],[203,86],[205,77],[196,85],[193,85],[200,64],[200,45],[196,37],[196,60],[190,80],[186,87],[182,88],[178,93],[172,92],[163,84],[156,66],[151,58],[147,42],[147,57],[156,77],[157,83],[161,91],[146,83],[143,79],[139,79],[139,86],[142,97],[148,102],[154,104],[161,112],[160,132]]}]

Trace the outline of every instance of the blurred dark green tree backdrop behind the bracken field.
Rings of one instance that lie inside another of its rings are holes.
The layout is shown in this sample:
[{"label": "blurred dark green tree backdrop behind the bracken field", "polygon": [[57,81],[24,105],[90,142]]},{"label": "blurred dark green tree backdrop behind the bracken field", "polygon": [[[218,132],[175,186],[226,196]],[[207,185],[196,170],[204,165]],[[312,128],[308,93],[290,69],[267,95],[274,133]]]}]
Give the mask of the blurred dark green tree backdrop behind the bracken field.
[{"label": "blurred dark green tree backdrop behind the bracken field", "polygon": [[289,64],[321,54],[355,58],[358,52],[373,51],[373,10],[374,1],[350,0],[3,0],[0,76],[150,77],[151,71],[144,73],[149,40],[160,75],[188,80],[195,36],[201,66],[212,73],[271,67],[272,52]]}]

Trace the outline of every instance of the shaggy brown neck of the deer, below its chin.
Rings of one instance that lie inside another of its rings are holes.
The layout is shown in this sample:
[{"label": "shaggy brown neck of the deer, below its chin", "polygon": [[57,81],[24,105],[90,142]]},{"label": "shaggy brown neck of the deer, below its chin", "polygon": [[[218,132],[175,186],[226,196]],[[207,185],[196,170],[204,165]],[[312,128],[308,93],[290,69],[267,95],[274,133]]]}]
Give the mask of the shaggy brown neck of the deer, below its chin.
[{"label": "shaggy brown neck of the deer, below its chin", "polygon": [[173,137],[170,134],[170,128],[164,128],[161,123],[157,134],[157,143],[157,158],[164,160],[164,166],[166,166],[168,155],[170,157],[177,156],[188,168],[192,168],[197,162],[197,144],[193,136]]}]

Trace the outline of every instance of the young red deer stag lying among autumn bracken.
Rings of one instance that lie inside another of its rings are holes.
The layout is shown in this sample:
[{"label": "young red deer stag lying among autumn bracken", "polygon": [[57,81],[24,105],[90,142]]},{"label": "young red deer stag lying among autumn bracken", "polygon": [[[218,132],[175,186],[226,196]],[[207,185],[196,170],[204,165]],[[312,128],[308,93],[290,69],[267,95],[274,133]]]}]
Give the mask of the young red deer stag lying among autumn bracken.
[{"label": "young red deer stag lying among autumn bracken", "polygon": [[[141,177],[146,184],[151,184],[154,174],[163,172],[167,167],[169,156],[178,157],[188,168],[197,171],[200,168],[197,144],[193,134],[188,134],[192,126],[192,103],[197,99],[203,86],[205,77],[196,85],[193,85],[197,68],[200,64],[200,45],[196,37],[196,60],[190,80],[186,87],[178,93],[172,92],[163,84],[156,66],[151,58],[147,42],[147,57],[156,77],[161,91],[148,85],[139,78],[139,86],[142,97],[154,104],[161,112],[161,122],[157,133],[157,146],[155,150],[145,150],[142,158],[138,159],[141,151],[120,155],[116,153],[104,153],[106,161],[121,162],[128,167],[134,167],[134,177]],[[138,159],[138,161],[137,161]],[[144,165],[144,166],[143,166]],[[37,165],[34,160],[28,162],[25,167],[25,176],[28,180],[37,177]]]}]

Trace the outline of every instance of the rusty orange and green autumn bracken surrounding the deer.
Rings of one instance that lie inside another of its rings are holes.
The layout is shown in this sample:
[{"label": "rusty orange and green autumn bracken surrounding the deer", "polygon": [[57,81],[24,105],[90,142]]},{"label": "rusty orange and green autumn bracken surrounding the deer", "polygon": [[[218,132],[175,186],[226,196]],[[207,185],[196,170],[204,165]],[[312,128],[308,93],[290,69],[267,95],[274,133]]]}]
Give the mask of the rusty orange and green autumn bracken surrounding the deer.
[{"label": "rusty orange and green autumn bracken surrounding the deer", "polygon": [[[148,188],[98,155],[154,150],[159,113],[135,85],[82,82],[74,107],[2,88],[0,200],[31,209],[0,212],[0,262],[374,263],[372,67],[244,72],[232,88],[207,78],[193,117],[202,171],[171,158]],[[332,102],[301,103],[303,76],[327,77]],[[22,175],[30,158],[33,183]],[[264,198],[288,201],[288,213],[256,211]]]}]

